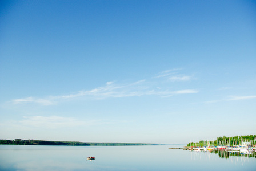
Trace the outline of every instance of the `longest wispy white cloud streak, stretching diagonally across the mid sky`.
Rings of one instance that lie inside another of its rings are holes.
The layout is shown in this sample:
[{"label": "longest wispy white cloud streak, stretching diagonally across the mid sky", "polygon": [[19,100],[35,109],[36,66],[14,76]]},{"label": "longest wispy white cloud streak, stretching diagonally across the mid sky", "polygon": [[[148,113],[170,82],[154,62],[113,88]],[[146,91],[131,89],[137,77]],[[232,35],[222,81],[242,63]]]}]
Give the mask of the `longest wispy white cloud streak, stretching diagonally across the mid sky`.
[{"label": "longest wispy white cloud streak, stretching diagonally across the mid sky", "polygon": [[[187,81],[190,80],[190,76],[170,76],[172,71],[178,71],[181,69],[167,70],[161,72],[161,74],[169,75],[170,80],[173,81]],[[162,75],[163,76],[163,75]],[[161,77],[160,75],[157,78]],[[160,84],[160,85],[159,85]],[[106,82],[105,86],[97,87],[87,91],[79,91],[69,95],[62,96],[48,96],[45,98],[26,97],[24,99],[14,99],[11,102],[13,104],[25,104],[25,103],[37,103],[41,105],[53,105],[59,101],[66,99],[75,99],[76,97],[85,97],[87,99],[106,99],[117,97],[131,97],[131,96],[149,96],[156,95],[160,97],[169,97],[173,95],[186,94],[186,93],[198,93],[195,89],[179,89],[170,91],[169,86],[165,83],[157,82],[155,79],[147,81],[146,79],[138,80],[137,82],[117,84],[115,82]],[[154,86],[153,86],[154,85]]]}]

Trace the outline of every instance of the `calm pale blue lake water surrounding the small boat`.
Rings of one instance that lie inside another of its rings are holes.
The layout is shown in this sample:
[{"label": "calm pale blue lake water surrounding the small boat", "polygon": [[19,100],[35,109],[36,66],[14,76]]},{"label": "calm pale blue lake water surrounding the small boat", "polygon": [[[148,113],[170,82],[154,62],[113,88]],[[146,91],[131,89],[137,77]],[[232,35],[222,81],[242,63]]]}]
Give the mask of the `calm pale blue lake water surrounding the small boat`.
[{"label": "calm pale blue lake water surrounding the small boat", "polygon": [[0,170],[256,170],[255,152],[227,157],[169,149],[182,146],[0,145]]}]

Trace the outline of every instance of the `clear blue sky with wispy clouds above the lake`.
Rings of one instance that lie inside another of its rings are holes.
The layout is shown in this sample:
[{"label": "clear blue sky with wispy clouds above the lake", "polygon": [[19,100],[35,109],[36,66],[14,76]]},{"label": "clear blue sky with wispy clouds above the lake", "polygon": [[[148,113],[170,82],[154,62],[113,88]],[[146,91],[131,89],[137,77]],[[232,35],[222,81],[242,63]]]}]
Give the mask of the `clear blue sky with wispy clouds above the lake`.
[{"label": "clear blue sky with wispy clouds above the lake", "polygon": [[254,1],[1,1],[0,138],[256,134]]}]

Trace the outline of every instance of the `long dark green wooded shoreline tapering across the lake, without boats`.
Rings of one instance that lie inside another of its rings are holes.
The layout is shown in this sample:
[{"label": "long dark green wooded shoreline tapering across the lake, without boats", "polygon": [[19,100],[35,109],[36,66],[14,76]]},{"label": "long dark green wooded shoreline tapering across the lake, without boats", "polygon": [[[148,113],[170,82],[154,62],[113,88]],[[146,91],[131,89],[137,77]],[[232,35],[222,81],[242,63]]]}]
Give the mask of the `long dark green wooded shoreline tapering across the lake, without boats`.
[{"label": "long dark green wooded shoreline tapering across the lake, without boats", "polygon": [[45,141],[45,140],[0,140],[0,145],[66,145],[66,146],[115,146],[115,145],[160,145],[150,143],[83,143],[78,141]]}]

